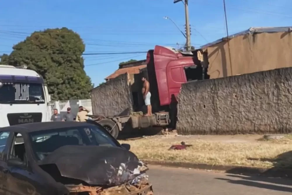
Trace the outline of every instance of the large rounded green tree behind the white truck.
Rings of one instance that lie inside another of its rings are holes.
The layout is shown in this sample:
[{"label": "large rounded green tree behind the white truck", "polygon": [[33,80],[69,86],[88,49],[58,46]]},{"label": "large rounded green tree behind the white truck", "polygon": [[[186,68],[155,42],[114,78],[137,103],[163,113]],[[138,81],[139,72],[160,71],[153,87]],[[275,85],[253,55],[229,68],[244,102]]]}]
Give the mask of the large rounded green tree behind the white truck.
[{"label": "large rounded green tree behind the white truck", "polygon": [[84,71],[85,45],[77,33],[67,28],[36,31],[13,46],[1,64],[27,65],[48,85],[52,100],[87,99],[93,88]]}]

